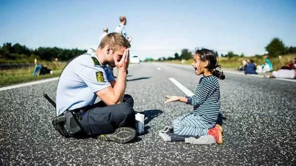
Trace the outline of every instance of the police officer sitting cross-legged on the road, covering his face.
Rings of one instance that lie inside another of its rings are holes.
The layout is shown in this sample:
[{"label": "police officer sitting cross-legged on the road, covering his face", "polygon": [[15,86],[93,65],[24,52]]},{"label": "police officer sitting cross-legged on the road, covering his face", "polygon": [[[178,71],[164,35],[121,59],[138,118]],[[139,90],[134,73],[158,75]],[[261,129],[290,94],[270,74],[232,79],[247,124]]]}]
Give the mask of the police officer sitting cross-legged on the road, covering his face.
[{"label": "police officer sitting cross-legged on the road, covering his face", "polygon": [[[129,64],[129,41],[120,33],[107,34],[98,49],[73,59],[65,66],[57,87],[57,115],[81,111],[83,134],[100,140],[126,143],[136,131],[133,100],[124,95]],[[106,65],[118,68],[115,80]],[[101,101],[94,104],[96,98]]]}]

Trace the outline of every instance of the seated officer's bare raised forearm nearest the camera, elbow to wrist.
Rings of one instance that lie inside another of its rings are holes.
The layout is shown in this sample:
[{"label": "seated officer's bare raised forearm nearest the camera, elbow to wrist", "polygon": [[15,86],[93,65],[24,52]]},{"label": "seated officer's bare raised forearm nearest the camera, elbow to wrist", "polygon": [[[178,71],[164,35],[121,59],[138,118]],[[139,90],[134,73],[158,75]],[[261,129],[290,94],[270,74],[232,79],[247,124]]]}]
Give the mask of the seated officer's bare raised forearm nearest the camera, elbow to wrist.
[{"label": "seated officer's bare raised forearm nearest the camera, elbow to wrist", "polygon": [[126,87],[126,72],[122,72],[119,70],[118,77],[116,83],[113,87],[115,94],[115,103],[121,103]]}]

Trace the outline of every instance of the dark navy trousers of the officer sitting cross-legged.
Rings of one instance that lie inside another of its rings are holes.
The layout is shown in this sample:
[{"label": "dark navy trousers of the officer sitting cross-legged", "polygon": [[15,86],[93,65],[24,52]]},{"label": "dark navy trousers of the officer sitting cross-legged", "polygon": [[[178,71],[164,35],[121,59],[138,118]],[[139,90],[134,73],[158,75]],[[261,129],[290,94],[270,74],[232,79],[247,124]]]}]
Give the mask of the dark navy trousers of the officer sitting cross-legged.
[{"label": "dark navy trousers of the officer sitting cross-legged", "polygon": [[89,136],[112,133],[119,127],[135,128],[135,113],[132,106],[133,100],[127,94],[120,104],[106,106],[100,101],[82,114],[80,125]]}]

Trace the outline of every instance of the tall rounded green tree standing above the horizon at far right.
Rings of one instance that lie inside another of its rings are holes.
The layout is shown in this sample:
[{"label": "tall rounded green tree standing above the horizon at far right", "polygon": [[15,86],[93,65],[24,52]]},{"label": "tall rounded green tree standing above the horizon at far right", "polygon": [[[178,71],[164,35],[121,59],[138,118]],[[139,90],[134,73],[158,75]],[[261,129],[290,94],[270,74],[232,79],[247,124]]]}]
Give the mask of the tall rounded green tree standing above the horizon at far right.
[{"label": "tall rounded green tree standing above the horizon at far right", "polygon": [[285,44],[279,38],[273,38],[265,47],[270,57],[277,57],[286,53]]}]

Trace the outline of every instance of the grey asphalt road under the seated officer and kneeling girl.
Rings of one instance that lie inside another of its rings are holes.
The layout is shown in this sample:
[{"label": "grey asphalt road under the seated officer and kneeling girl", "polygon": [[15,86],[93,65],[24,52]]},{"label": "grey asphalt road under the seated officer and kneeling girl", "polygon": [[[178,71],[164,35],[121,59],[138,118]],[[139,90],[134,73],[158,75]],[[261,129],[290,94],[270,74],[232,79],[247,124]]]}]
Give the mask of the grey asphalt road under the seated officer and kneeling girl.
[{"label": "grey asphalt road under the seated officer and kneeling girl", "polygon": [[[158,67],[158,68],[157,68]],[[168,78],[194,90],[190,66],[130,65],[126,93],[145,113],[145,134],[129,144],[63,138],[51,125],[57,81],[0,91],[0,165],[296,165],[296,82],[226,73],[220,81],[224,145],[165,142],[164,126],[192,111],[164,104],[185,96]]]}]

